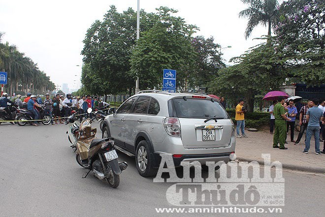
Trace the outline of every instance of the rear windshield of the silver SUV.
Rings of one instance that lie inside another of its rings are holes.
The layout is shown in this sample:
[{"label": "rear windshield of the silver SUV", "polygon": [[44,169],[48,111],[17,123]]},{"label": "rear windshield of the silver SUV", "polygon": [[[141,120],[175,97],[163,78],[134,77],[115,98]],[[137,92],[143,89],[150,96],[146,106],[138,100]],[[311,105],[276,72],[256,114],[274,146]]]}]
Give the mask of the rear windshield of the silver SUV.
[{"label": "rear windshield of the silver SUV", "polygon": [[[172,99],[176,109],[176,115],[180,118],[208,118],[217,117],[228,119],[225,109],[218,102],[200,99]],[[168,104],[168,107],[172,106]],[[170,108],[168,108],[170,109]],[[174,113],[174,112],[173,112]]]}]

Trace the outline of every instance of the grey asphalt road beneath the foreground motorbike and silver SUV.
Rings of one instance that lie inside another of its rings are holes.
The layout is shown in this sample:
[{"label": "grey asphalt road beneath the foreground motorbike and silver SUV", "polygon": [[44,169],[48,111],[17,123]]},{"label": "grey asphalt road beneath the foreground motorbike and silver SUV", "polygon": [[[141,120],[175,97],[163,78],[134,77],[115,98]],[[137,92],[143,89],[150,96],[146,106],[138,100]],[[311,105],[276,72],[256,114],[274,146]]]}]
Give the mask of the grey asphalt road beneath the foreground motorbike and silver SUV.
[{"label": "grey asphalt road beneath the foreground motorbike and silver SUV", "polygon": [[[101,132],[98,124],[98,136]],[[129,167],[120,186],[111,188],[75,161],[65,134],[66,126],[0,125],[0,215],[11,216],[158,216],[155,208],[173,208],[166,190],[173,183],[157,183],[141,177],[135,160],[119,153]],[[324,216],[325,175],[284,171],[285,206],[280,216]],[[191,214],[159,214],[191,216]],[[222,216],[195,214],[193,216]],[[231,214],[234,216],[235,214]],[[237,214],[237,216],[273,216]],[[229,216],[229,214],[224,214]]]}]

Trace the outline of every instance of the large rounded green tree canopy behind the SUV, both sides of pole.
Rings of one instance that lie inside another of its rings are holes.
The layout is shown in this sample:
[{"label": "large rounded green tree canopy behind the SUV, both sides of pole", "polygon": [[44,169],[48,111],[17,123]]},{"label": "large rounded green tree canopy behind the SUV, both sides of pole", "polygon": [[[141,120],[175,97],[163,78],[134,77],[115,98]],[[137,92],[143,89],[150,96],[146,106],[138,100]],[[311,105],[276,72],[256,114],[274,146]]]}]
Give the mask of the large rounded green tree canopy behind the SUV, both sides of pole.
[{"label": "large rounded green tree canopy behind the SUV, both sides of pole", "polygon": [[[84,39],[82,82],[94,94],[131,90],[136,76],[140,89],[160,88],[163,69],[177,70],[177,87],[205,85],[224,63],[220,45],[213,38],[193,38],[198,30],[175,16],[177,10],[160,7],[156,13],[140,11],[140,39],[136,36],[136,12],[122,13],[115,6],[95,21]],[[194,41],[197,40],[197,43]],[[198,73],[202,73],[201,76]]]}]

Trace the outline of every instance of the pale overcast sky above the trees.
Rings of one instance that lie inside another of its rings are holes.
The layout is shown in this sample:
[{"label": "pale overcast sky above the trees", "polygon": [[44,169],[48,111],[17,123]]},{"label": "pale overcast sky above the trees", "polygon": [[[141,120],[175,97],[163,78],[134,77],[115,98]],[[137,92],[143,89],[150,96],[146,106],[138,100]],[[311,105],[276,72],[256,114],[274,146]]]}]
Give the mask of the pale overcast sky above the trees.
[{"label": "pale overcast sky above the trees", "polygon": [[[68,83],[74,88],[73,80],[81,75],[80,52],[86,31],[95,20],[102,20],[112,4],[119,12],[128,7],[136,10],[137,0],[0,0],[2,42],[15,44],[55,84]],[[140,8],[146,12],[160,6],[177,9],[178,16],[198,26],[195,35],[213,36],[222,47],[230,45],[223,50],[226,61],[261,42],[253,38],[267,34],[260,26],[245,40],[247,20],[238,13],[247,6],[240,0],[140,0]]]}]

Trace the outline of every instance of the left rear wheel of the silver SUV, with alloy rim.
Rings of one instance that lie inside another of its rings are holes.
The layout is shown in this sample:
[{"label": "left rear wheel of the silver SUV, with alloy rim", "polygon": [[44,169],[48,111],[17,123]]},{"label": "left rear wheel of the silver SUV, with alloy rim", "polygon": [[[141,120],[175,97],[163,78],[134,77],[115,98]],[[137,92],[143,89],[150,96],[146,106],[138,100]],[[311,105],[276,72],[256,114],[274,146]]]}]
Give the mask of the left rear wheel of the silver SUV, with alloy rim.
[{"label": "left rear wheel of the silver SUV, with alloy rim", "polygon": [[136,147],[135,164],[139,174],[143,177],[155,175],[156,170],[153,167],[152,150],[147,141],[142,140]]}]

